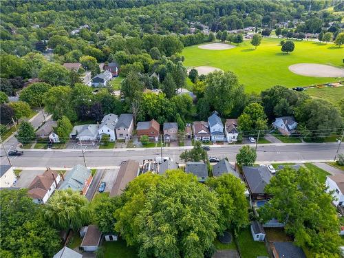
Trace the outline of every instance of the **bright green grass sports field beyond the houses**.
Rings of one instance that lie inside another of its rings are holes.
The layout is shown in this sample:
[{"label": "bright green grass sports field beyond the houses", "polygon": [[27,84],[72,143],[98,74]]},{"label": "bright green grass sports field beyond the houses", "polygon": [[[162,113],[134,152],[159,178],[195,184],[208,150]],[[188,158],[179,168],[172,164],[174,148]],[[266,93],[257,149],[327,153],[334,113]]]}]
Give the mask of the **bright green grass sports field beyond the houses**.
[{"label": "bright green grass sports field beyond the houses", "polygon": [[185,56],[184,65],[188,67],[208,66],[235,72],[247,92],[261,92],[274,85],[296,87],[343,80],[343,77],[294,74],[289,66],[317,63],[344,69],[344,47],[312,41],[294,41],[294,52],[283,54],[280,41],[281,39],[264,38],[257,50],[250,45],[250,41],[244,41],[228,50],[206,50],[195,45],[185,47],[182,55]]}]

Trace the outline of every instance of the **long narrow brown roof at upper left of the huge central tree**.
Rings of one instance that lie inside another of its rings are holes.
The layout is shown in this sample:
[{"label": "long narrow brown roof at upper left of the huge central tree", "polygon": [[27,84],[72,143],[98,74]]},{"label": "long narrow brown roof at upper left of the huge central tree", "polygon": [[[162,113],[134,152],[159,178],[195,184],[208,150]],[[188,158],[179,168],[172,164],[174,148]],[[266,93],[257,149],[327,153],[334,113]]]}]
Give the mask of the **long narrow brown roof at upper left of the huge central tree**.
[{"label": "long narrow brown roof at upper left of the huge central tree", "polygon": [[125,187],[129,182],[138,176],[140,173],[140,166],[135,160],[127,160],[122,162],[120,169],[118,170],[116,182],[112,186],[110,197],[120,195],[122,191],[125,190]]}]

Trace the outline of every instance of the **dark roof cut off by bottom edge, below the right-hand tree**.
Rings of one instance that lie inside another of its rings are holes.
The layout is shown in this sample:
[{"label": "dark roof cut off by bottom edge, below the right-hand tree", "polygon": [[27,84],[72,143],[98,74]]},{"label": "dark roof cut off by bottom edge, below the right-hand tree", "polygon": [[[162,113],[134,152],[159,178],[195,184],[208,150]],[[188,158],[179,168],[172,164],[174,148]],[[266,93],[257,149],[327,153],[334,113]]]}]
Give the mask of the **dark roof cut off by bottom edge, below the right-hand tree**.
[{"label": "dark roof cut off by bottom edge, below the right-hand tree", "polygon": [[302,248],[292,242],[272,242],[270,246],[274,258],[306,258]]}]

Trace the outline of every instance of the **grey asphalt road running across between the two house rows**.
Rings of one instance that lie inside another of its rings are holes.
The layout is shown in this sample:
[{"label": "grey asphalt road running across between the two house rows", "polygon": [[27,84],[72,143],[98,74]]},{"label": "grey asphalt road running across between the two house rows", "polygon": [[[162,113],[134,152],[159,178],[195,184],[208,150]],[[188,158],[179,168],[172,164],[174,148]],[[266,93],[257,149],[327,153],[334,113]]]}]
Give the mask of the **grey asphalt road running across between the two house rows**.
[{"label": "grey asphalt road running across between the two house rows", "polygon": [[[254,145],[252,145],[254,146]],[[230,162],[235,162],[235,155],[242,145],[225,145],[221,147],[211,147],[209,156],[226,158]],[[322,144],[262,144],[257,149],[257,162],[321,162],[333,160],[338,148],[338,143]],[[169,156],[175,162],[180,162],[179,155],[184,149],[164,149],[163,155]],[[339,153],[344,153],[342,144]],[[6,155],[1,155],[1,164],[8,164]],[[87,150],[85,160],[89,167],[119,166],[124,160],[153,159],[160,155],[159,149],[114,149],[114,150]],[[11,157],[13,166],[17,167],[72,167],[76,164],[83,164],[81,150],[33,150],[24,151],[19,157]]]}]

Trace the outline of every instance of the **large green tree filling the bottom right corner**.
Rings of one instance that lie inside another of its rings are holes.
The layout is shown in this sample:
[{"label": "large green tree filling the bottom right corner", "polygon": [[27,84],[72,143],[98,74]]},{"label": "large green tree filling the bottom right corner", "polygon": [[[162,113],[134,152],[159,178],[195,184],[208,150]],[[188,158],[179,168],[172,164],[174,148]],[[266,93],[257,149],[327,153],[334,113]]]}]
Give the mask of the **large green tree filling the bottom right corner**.
[{"label": "large green tree filling the bottom right corner", "polygon": [[259,215],[264,221],[275,218],[286,223],[294,243],[310,249],[315,257],[339,257],[338,218],[333,197],[325,190],[314,171],[286,167],[266,186],[272,198],[259,208]]}]

